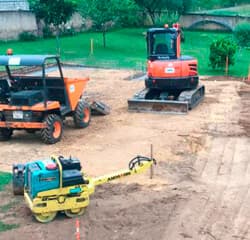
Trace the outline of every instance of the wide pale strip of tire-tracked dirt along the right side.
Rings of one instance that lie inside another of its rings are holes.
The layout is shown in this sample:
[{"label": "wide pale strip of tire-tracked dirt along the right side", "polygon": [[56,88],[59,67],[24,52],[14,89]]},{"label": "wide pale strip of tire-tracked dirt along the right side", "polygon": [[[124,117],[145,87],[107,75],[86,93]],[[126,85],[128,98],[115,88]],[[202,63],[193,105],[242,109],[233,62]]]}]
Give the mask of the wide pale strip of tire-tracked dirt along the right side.
[{"label": "wide pale strip of tire-tracked dirt along the right side", "polygon": [[207,124],[208,151],[198,153],[192,162],[197,182],[190,183],[194,190],[187,202],[177,206],[177,217],[169,224],[165,239],[250,239],[245,217],[245,213],[249,215],[250,142],[237,125],[241,106],[238,87],[225,86],[221,100],[212,108]]}]

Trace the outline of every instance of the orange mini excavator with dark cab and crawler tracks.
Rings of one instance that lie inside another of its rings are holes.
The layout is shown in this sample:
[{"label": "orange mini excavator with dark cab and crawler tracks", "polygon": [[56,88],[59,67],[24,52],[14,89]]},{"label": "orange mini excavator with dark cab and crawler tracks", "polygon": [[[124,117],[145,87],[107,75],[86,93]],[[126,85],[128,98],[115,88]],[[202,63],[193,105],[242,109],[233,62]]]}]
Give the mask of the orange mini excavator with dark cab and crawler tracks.
[{"label": "orange mini excavator with dark cab and crawler tracks", "polygon": [[133,112],[187,113],[205,95],[199,85],[197,59],[181,55],[181,30],[150,28],[147,31],[147,77],[145,88],[128,100]]}]

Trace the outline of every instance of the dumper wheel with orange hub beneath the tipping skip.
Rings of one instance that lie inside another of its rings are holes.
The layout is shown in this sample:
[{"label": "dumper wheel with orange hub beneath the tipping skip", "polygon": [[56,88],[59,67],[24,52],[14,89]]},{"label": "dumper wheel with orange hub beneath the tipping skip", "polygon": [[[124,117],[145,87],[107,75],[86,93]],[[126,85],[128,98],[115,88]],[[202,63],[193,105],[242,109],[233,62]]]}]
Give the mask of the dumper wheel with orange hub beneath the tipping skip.
[{"label": "dumper wheel with orange hub beneath the tipping skip", "polygon": [[90,106],[84,100],[78,102],[74,112],[74,123],[77,128],[86,128],[91,121]]}]

